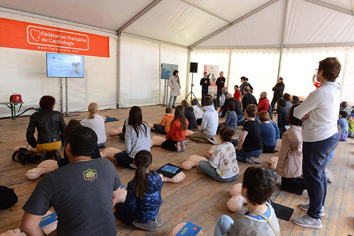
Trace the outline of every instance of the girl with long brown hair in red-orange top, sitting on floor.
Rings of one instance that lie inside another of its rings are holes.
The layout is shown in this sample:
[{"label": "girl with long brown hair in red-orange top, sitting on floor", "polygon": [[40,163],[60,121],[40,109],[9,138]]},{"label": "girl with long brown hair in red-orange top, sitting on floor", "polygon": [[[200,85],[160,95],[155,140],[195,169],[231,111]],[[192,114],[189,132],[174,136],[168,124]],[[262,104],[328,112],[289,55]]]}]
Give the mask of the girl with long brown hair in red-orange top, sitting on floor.
[{"label": "girl with long brown hair in red-orange top, sitting on floor", "polygon": [[166,135],[166,140],[162,143],[162,148],[170,151],[185,151],[186,146],[183,140],[186,138],[188,120],[185,117],[185,109],[179,105],[174,111],[174,118]]}]

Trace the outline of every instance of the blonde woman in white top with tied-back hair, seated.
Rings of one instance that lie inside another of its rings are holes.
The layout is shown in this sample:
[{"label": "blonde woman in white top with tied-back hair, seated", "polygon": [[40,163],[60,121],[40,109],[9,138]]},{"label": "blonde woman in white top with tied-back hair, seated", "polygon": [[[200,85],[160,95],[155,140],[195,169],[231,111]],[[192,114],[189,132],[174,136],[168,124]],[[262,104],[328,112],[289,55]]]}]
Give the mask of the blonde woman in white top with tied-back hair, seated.
[{"label": "blonde woman in white top with tied-back hair, seated", "polygon": [[98,104],[90,103],[89,105],[89,116],[86,119],[80,121],[82,126],[89,127],[95,131],[98,140],[97,144],[99,148],[102,148],[106,144],[106,128],[105,121],[106,117],[98,114]]}]

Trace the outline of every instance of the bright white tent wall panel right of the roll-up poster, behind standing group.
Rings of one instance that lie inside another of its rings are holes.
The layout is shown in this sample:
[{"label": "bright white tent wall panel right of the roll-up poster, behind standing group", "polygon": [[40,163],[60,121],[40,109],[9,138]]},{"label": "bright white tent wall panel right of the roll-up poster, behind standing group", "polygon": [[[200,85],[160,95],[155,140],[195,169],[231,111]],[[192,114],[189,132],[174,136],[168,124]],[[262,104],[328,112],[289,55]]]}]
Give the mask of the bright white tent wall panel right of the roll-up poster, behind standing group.
[{"label": "bright white tent wall panel right of the roll-up poster, behind standing group", "polygon": [[258,100],[262,91],[268,93],[272,101],[272,88],[277,81],[279,49],[238,49],[233,50],[229,91],[241,85],[240,78],[245,76],[253,87],[253,96]]}]

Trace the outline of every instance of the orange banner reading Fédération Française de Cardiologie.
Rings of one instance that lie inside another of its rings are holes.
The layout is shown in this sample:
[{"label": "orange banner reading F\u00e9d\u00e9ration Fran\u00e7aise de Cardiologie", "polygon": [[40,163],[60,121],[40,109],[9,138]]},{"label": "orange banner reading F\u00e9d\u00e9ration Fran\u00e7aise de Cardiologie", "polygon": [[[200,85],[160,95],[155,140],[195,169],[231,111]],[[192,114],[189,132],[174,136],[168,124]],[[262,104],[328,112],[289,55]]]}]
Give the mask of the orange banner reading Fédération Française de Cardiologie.
[{"label": "orange banner reading F\u00e9d\u00e9ration Fran\u00e7aise de Cardiologie", "polygon": [[109,57],[109,37],[0,18],[0,46]]}]

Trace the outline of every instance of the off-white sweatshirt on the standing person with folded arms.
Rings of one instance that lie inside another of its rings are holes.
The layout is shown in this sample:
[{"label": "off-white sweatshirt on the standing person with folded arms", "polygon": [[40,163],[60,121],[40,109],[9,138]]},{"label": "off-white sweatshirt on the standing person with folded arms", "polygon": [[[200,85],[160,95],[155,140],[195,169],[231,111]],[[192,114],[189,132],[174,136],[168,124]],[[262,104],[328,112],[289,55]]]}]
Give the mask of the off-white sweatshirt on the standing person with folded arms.
[{"label": "off-white sweatshirt on the standing person with folded arms", "polygon": [[341,89],[342,86],[338,82],[325,82],[294,109],[294,116],[297,119],[302,119],[306,113],[309,113],[302,124],[303,141],[321,141],[338,132]]}]

